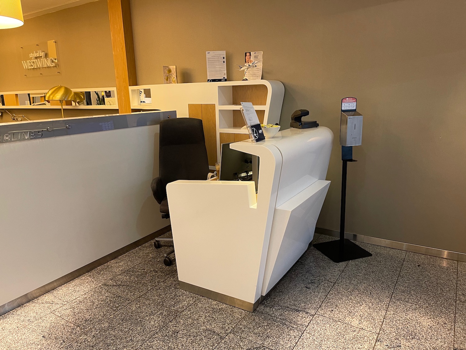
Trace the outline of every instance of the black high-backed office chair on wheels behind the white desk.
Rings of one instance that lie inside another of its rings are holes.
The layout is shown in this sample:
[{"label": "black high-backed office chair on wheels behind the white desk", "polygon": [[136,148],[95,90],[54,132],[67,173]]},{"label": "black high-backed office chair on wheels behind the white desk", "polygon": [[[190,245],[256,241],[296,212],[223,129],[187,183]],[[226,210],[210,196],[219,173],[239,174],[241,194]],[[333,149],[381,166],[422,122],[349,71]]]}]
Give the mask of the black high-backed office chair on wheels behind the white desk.
[{"label": "black high-backed office chair on wheels behind the white desk", "polygon": [[[168,208],[167,183],[176,180],[206,180],[209,173],[206,140],[202,120],[195,118],[165,119],[160,122],[159,175],[152,180],[151,189],[160,204],[162,217],[170,217]],[[154,246],[158,249],[161,241],[172,238],[157,238]],[[164,265],[170,266],[174,259],[169,257],[174,249],[164,254]]]}]

